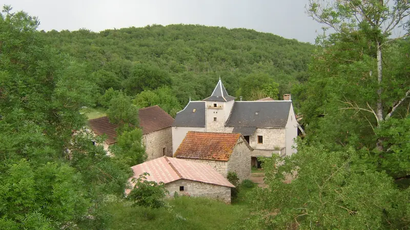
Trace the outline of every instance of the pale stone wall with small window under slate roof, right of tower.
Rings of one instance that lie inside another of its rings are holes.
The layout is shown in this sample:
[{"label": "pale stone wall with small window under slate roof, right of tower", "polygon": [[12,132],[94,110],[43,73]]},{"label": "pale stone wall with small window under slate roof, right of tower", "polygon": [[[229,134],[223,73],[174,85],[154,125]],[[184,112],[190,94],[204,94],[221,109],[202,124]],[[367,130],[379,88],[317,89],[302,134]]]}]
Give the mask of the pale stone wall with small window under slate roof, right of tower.
[{"label": "pale stone wall with small window under slate roof, right of tower", "polygon": [[[258,144],[258,135],[263,136],[263,144]],[[256,128],[249,137],[249,145],[254,149],[274,150],[275,147],[282,149],[286,146],[285,129],[282,128]]]}]

